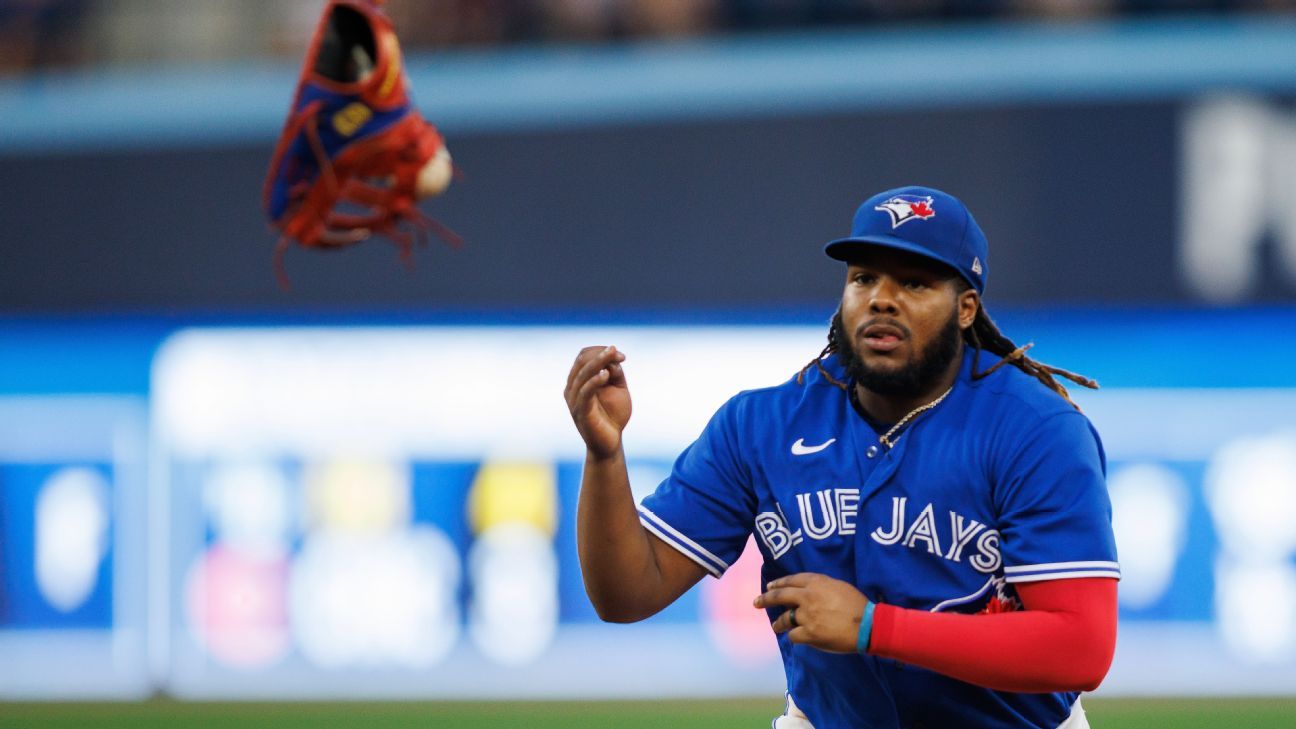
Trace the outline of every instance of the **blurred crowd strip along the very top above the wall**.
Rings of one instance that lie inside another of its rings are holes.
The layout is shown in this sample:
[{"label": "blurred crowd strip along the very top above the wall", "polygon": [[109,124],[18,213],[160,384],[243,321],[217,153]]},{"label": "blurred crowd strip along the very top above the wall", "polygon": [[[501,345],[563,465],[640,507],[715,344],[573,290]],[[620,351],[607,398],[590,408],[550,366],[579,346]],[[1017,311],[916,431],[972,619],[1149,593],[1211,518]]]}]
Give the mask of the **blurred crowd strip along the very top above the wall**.
[{"label": "blurred crowd strip along the very top above the wall", "polygon": [[[0,0],[0,73],[297,56],[323,0]],[[389,0],[407,48],[899,21],[1296,10],[1296,0]]]}]

